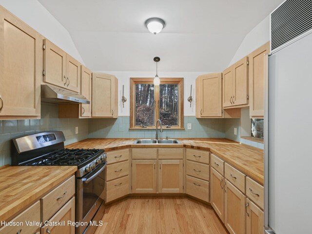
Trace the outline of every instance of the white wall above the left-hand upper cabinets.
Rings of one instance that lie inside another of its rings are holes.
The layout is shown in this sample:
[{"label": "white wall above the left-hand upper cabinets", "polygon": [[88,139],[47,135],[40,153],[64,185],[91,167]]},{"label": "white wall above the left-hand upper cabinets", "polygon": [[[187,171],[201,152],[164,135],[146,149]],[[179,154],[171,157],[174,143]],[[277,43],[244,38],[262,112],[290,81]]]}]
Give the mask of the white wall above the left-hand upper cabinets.
[{"label": "white wall above the left-hand upper cabinets", "polygon": [[0,0],[0,5],[83,63],[68,31],[37,0]]}]

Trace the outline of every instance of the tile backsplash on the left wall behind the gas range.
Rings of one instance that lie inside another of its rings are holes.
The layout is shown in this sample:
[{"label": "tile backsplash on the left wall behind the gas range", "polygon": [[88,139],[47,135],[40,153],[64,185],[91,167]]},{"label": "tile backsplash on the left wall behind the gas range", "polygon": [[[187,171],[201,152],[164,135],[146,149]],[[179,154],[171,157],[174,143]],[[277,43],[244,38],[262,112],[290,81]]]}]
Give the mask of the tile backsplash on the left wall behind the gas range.
[{"label": "tile backsplash on the left wall behind the gas range", "polygon": [[[75,134],[78,127],[78,134]],[[44,131],[62,131],[65,144],[88,137],[89,119],[59,118],[55,104],[41,105],[41,119],[0,120],[0,166],[11,164],[11,139]]]}]

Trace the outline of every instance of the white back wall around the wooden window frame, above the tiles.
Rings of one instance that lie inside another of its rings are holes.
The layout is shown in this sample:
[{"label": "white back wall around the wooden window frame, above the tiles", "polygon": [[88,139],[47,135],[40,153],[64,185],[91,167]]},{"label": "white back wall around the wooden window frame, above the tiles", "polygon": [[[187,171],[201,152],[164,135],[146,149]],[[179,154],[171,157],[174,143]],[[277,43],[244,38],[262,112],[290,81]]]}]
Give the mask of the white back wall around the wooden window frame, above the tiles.
[{"label": "white back wall around the wooden window frame, above the tiles", "polygon": [[[112,74],[118,78],[118,116],[130,116],[130,78],[154,78],[154,72],[112,72],[112,71],[99,71],[102,73]],[[199,75],[212,73],[212,72],[158,72],[160,78],[184,78],[184,116],[195,116],[195,79]],[[187,98],[190,96],[191,84],[192,89],[192,107]],[[127,98],[125,107],[122,108],[122,85],[124,88],[124,96]]]}]

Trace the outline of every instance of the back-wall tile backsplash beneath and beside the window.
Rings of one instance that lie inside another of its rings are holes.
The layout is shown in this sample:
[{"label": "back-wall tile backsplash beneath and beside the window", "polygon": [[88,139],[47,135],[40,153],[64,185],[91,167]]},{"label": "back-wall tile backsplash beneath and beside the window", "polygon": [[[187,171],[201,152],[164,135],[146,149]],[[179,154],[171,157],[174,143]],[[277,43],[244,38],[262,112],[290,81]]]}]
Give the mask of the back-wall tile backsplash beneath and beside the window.
[{"label": "back-wall tile backsplash beneath and beside the window", "polygon": [[[221,118],[197,119],[195,116],[184,116],[184,130],[167,130],[163,128],[159,138],[224,138],[224,120]],[[192,124],[192,129],[187,130],[187,123]],[[90,119],[89,138],[154,138],[155,130],[129,130],[130,117],[117,119]]]}]

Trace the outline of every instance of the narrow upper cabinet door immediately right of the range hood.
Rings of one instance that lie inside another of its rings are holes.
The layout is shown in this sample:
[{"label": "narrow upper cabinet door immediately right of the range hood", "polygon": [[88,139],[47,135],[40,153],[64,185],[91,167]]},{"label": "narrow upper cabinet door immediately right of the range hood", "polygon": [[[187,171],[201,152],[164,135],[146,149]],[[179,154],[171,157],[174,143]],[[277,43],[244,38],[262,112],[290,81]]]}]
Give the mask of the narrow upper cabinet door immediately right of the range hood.
[{"label": "narrow upper cabinet door immediately right of the range hood", "polygon": [[86,97],[90,104],[80,105],[80,117],[91,117],[91,95],[92,95],[92,73],[85,66],[81,65],[81,95]]}]

